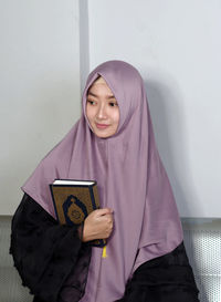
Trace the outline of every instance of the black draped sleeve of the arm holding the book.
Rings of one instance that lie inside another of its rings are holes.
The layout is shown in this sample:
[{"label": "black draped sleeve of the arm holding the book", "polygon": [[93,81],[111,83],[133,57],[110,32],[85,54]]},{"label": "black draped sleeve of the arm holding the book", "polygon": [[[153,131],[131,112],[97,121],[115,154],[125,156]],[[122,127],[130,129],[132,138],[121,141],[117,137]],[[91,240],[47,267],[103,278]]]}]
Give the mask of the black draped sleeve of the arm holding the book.
[{"label": "black draped sleeve of the arm holding the book", "polygon": [[73,301],[83,296],[92,247],[77,227],[61,226],[24,194],[11,225],[10,253],[22,284],[34,301]]}]

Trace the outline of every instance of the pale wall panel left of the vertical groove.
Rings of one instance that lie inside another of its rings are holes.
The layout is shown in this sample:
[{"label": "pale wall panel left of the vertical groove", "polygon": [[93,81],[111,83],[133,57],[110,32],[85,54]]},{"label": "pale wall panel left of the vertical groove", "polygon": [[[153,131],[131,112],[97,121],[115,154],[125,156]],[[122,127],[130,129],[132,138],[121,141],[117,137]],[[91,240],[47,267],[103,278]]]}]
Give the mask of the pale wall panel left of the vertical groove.
[{"label": "pale wall panel left of the vertical groove", "polygon": [[0,215],[80,116],[78,1],[0,1]]}]

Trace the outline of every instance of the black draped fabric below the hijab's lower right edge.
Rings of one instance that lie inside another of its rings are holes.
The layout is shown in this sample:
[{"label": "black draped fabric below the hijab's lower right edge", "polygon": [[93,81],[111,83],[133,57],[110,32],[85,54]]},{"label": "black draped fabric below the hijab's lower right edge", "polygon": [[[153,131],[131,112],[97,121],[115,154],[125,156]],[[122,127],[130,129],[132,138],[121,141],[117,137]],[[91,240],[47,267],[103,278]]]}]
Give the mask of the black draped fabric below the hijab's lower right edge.
[{"label": "black draped fabric below the hijab's lower right edge", "polygon": [[198,289],[185,244],[146,261],[128,280],[123,299],[116,302],[199,302]]}]

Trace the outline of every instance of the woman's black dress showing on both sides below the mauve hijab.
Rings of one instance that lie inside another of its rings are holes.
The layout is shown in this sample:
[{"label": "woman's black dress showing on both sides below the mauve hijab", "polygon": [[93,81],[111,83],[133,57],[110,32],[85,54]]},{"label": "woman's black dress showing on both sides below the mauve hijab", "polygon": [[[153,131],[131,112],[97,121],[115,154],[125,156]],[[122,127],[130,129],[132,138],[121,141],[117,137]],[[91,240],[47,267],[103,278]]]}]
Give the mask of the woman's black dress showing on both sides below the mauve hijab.
[{"label": "woman's black dress showing on both sides below the mauve hijab", "polygon": [[[10,253],[34,302],[70,302],[67,292],[77,302],[84,295],[91,243],[82,242],[77,227],[60,226],[27,194],[12,219]],[[117,301],[199,302],[183,242],[137,268]]]}]

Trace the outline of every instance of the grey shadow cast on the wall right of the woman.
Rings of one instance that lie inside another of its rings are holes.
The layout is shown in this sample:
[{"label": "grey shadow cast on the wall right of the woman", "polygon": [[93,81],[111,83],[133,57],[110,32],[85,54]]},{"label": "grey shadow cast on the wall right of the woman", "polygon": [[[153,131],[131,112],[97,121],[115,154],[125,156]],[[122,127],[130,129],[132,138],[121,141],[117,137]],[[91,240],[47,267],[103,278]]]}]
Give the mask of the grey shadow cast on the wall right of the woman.
[{"label": "grey shadow cast on the wall right of the woman", "polygon": [[[168,81],[167,81],[168,82]],[[190,175],[187,147],[185,102],[176,83],[172,90],[160,82],[145,83],[155,137],[160,158],[168,174],[181,217],[198,212],[198,197]],[[189,200],[194,200],[191,204]]]}]

